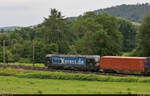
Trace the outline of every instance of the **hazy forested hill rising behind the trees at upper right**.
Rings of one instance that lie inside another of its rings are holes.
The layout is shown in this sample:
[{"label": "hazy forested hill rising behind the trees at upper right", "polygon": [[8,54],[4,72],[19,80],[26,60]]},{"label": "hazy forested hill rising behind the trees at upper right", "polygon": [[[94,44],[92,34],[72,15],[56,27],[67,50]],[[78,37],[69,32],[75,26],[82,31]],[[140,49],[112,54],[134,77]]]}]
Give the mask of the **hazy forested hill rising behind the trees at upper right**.
[{"label": "hazy forested hill rising behind the trees at upper right", "polygon": [[119,5],[106,9],[95,10],[96,14],[108,13],[118,17],[123,17],[134,22],[141,22],[143,18],[150,13],[150,4],[136,4],[136,5]]}]

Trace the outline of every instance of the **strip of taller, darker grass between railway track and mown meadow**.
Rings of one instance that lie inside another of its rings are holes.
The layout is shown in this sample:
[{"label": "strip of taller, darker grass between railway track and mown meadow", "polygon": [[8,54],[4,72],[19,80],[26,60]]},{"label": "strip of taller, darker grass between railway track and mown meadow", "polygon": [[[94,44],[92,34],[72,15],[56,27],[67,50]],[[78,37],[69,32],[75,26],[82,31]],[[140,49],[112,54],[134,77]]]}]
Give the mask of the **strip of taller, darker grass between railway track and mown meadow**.
[{"label": "strip of taller, darker grass between railway track and mown meadow", "polygon": [[59,80],[86,80],[86,81],[104,81],[104,82],[144,82],[150,83],[150,77],[119,77],[105,76],[96,74],[64,73],[33,71],[23,69],[0,69],[0,76],[15,76],[18,78],[40,78],[40,79],[59,79]]}]

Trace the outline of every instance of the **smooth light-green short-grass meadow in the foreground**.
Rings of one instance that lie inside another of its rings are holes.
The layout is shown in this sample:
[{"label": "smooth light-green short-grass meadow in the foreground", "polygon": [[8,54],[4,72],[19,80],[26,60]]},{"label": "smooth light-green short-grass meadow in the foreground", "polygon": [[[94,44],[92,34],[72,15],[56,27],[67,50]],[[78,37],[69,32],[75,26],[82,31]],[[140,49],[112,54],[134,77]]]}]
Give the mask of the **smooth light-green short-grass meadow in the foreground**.
[{"label": "smooth light-green short-grass meadow in the foreground", "polygon": [[28,79],[0,76],[1,94],[150,94],[148,83]]}]

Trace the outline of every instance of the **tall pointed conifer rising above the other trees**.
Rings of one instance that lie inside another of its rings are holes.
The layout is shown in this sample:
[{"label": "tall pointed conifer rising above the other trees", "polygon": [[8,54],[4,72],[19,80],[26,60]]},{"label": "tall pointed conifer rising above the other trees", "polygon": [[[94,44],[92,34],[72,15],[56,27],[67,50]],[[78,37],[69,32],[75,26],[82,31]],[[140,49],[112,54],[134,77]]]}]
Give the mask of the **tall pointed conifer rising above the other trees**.
[{"label": "tall pointed conifer rising above the other trees", "polygon": [[69,46],[66,34],[69,31],[61,12],[51,9],[51,14],[48,18],[45,18],[41,31],[43,32],[43,39],[46,44],[55,43],[58,45],[59,53],[67,53]]}]

